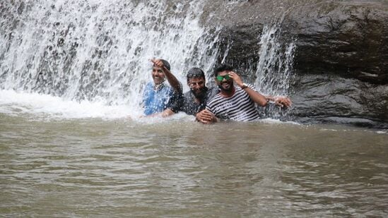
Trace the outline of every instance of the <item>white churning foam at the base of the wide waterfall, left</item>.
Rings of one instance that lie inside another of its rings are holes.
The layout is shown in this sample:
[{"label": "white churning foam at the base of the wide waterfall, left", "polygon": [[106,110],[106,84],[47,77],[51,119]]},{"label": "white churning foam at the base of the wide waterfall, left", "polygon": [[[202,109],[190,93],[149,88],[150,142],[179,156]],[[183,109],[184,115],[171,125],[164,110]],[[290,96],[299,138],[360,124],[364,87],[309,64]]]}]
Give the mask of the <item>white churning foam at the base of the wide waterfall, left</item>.
[{"label": "white churning foam at the base of the wide waterfall, left", "polygon": [[37,114],[59,119],[120,119],[140,116],[141,111],[129,105],[110,106],[103,99],[76,102],[51,95],[0,90],[0,113],[11,116]]}]

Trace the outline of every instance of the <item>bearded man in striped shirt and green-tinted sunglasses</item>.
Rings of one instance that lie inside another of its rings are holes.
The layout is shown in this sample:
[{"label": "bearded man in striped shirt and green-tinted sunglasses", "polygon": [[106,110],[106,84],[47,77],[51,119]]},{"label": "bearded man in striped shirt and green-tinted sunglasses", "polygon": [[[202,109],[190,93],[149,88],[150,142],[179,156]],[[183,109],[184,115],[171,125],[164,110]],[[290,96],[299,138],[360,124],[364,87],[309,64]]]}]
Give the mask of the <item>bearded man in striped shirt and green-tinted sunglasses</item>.
[{"label": "bearded man in striped shirt and green-tinted sunglasses", "polygon": [[233,68],[221,65],[214,71],[216,83],[220,92],[201,111],[201,123],[213,123],[218,119],[233,121],[253,121],[259,119],[256,105],[265,107],[269,101],[280,107],[290,107],[291,101],[287,97],[272,97],[261,95],[252,85],[242,82]]}]

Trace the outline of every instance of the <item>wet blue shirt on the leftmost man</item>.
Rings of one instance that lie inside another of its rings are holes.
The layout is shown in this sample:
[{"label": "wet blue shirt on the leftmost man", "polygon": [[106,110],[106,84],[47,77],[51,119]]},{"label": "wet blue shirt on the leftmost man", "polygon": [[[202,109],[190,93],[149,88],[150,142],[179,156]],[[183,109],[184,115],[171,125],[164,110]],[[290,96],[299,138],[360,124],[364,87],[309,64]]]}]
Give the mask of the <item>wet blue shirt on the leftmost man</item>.
[{"label": "wet blue shirt on the leftmost man", "polygon": [[143,92],[143,107],[144,114],[146,115],[159,113],[167,108],[172,108],[172,104],[175,104],[177,101],[172,87],[163,83],[157,90],[154,90],[153,86],[153,83],[147,83]]}]

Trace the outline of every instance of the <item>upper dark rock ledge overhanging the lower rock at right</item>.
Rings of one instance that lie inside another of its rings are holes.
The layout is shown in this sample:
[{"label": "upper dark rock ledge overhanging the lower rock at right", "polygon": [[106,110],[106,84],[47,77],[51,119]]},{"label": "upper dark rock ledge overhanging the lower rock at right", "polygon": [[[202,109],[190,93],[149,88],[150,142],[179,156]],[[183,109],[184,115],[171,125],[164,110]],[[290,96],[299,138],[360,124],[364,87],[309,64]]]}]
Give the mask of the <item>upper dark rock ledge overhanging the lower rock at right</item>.
[{"label": "upper dark rock ledge overhanging the lower rock at right", "polygon": [[298,35],[295,62],[300,73],[323,71],[387,84],[388,6],[341,3],[319,13],[313,9],[305,18],[289,16],[290,34]]}]

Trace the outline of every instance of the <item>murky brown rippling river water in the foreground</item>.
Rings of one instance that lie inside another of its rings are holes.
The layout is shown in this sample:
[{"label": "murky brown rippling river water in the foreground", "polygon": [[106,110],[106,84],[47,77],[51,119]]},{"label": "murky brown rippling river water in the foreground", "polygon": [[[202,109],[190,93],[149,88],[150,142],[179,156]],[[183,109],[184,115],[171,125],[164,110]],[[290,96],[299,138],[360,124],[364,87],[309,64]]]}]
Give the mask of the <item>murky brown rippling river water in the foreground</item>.
[{"label": "murky brown rippling river water in the foreground", "polygon": [[388,133],[0,114],[0,217],[387,217]]}]

